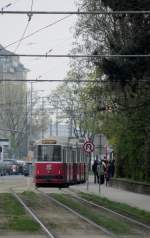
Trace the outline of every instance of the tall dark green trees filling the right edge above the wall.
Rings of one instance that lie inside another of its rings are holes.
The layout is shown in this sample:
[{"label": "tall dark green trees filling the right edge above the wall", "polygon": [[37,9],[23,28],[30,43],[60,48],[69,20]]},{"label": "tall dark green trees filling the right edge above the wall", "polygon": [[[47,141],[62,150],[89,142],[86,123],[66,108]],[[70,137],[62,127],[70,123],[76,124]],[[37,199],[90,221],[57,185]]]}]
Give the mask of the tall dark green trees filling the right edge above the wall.
[{"label": "tall dark green trees filling the right edge above the wall", "polygon": [[[79,1],[79,9],[85,11],[146,10],[149,7],[147,0]],[[82,15],[76,26],[82,47],[77,45],[76,50],[94,55],[149,54],[149,27],[149,14]],[[149,57],[105,57],[89,63],[89,68],[93,65],[103,72],[99,77],[103,78],[103,97],[100,87],[99,99],[93,103],[98,104],[100,98],[104,98],[105,104],[111,105],[111,115],[103,117],[103,131],[116,151],[117,175],[147,181],[150,180],[149,60]],[[86,91],[87,97],[94,91],[91,86]]]}]

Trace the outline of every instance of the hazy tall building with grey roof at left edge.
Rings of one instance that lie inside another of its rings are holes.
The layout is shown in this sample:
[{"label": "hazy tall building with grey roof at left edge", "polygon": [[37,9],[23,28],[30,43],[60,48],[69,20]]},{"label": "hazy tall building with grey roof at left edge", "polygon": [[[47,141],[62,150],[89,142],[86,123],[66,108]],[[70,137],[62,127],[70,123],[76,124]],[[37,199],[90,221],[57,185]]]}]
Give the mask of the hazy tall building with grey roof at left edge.
[{"label": "hazy tall building with grey roof at left edge", "polygon": [[9,139],[14,150],[23,141],[17,131],[23,132],[27,124],[28,71],[19,56],[0,45],[0,136]]}]

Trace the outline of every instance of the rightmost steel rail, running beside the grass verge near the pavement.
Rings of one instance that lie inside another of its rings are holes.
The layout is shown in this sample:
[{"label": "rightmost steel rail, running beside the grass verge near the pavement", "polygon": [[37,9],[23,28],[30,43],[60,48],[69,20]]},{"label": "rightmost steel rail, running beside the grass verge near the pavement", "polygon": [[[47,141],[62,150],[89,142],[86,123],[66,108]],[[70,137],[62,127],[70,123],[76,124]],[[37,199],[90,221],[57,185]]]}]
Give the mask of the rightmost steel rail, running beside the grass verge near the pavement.
[{"label": "rightmost steel rail, running beside the grass verge near the pavement", "polygon": [[[70,189],[68,189],[68,190],[70,190]],[[98,205],[98,204],[96,204],[96,203],[94,203],[94,202],[91,202],[91,201],[88,201],[88,200],[86,200],[86,199],[84,199],[84,198],[81,198],[79,195],[76,194],[76,192],[72,191],[72,189],[71,189],[71,192],[70,192],[70,193],[71,193],[71,194],[73,193],[73,194],[74,194],[73,196],[74,196],[75,198],[77,198],[77,199],[79,199],[79,200],[81,200],[81,201],[83,201],[83,202],[86,202],[86,203],[88,203],[88,204],[90,204],[90,205],[92,205],[92,206],[95,206],[95,207],[97,207],[97,208],[103,209],[103,210],[105,210],[105,211],[107,211],[107,212],[110,212],[110,213],[112,213],[112,214],[114,214],[114,215],[118,215],[119,217],[122,217],[122,218],[124,218],[124,219],[126,219],[126,220],[128,220],[128,221],[130,221],[130,222],[132,222],[132,223],[134,223],[134,224],[136,224],[136,225],[143,226],[144,228],[150,230],[150,226],[149,226],[149,225],[146,225],[146,224],[144,224],[144,223],[142,223],[142,222],[139,222],[139,221],[137,221],[137,220],[135,220],[135,219],[133,219],[133,218],[131,218],[131,217],[128,217],[128,216],[126,216],[126,215],[122,215],[122,214],[120,214],[120,213],[118,213],[118,212],[115,212],[115,211],[109,209],[109,208],[103,207],[103,206]]]}]

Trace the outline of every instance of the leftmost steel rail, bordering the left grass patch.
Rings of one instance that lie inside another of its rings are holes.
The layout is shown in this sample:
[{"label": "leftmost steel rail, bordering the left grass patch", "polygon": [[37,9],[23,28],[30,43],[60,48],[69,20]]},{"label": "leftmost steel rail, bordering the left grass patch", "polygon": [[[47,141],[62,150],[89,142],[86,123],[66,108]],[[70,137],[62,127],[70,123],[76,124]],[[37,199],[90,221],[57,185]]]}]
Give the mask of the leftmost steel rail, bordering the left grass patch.
[{"label": "leftmost steel rail, bordering the left grass patch", "polygon": [[40,219],[36,216],[36,214],[23,202],[23,200],[15,193],[13,189],[10,189],[13,196],[20,202],[20,204],[27,210],[27,212],[34,218],[34,220],[41,226],[44,233],[49,238],[56,238],[47,228],[46,226],[40,221]]}]

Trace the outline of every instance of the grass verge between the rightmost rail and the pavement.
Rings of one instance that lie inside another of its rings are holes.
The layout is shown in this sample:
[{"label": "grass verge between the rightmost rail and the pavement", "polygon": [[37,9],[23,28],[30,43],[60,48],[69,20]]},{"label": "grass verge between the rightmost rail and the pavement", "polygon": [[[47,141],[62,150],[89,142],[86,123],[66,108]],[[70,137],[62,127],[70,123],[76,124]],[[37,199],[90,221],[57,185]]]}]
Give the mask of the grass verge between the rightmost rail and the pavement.
[{"label": "grass verge between the rightmost rail and the pavement", "polygon": [[141,222],[150,224],[150,212],[144,211],[142,209],[138,209],[136,207],[131,207],[124,203],[114,202],[105,197],[100,197],[98,195],[88,194],[88,193],[80,193],[81,197],[90,200],[98,205],[104,206],[106,208],[110,208],[113,211],[119,212],[123,215],[128,215],[132,218],[135,218]]}]

